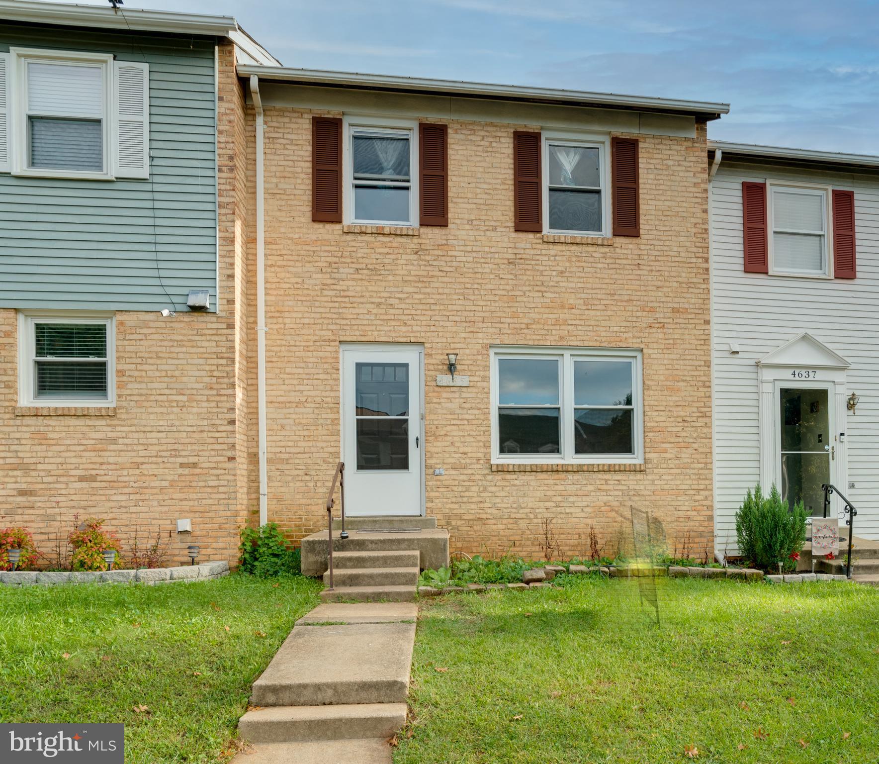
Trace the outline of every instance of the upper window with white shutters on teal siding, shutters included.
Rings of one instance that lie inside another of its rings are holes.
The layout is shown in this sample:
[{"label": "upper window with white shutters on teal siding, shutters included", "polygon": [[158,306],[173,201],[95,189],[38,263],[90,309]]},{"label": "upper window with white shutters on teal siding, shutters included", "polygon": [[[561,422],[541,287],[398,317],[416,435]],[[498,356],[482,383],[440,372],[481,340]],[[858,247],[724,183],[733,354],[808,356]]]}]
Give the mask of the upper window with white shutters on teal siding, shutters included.
[{"label": "upper window with white shutters on teal siding, shutters included", "polygon": [[[13,47],[0,53],[0,96],[4,94],[0,172],[149,178],[147,63]],[[4,135],[4,125],[14,129]]]}]

